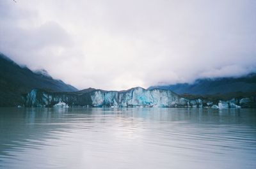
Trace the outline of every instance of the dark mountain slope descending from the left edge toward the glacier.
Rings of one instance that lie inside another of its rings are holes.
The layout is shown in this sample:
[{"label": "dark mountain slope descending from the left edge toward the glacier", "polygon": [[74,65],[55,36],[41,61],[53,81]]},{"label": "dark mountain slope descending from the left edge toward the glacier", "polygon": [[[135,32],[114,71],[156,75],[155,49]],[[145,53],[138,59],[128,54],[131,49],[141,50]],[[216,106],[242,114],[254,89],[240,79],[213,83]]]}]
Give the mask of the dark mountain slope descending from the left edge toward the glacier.
[{"label": "dark mountain slope descending from the left edge toward the glacier", "polygon": [[35,88],[59,92],[77,91],[72,85],[52,78],[45,70],[33,72],[0,54],[0,107],[20,105],[21,94]]}]

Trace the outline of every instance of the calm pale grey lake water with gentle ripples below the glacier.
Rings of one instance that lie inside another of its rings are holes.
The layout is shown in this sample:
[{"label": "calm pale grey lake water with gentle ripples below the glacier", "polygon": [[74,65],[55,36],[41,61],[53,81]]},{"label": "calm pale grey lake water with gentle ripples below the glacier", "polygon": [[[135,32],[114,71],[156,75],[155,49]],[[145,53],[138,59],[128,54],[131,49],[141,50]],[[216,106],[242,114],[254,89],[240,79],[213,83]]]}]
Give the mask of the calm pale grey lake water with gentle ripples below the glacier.
[{"label": "calm pale grey lake water with gentle ripples below the glacier", "polygon": [[0,168],[256,168],[256,109],[0,108]]}]

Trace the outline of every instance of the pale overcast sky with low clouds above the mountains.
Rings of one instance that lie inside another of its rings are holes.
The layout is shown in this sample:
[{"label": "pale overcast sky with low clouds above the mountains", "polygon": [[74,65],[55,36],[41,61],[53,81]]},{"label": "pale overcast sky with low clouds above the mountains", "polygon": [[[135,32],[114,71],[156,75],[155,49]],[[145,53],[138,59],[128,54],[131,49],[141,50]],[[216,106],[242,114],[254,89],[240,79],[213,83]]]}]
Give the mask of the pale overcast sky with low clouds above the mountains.
[{"label": "pale overcast sky with low clouds above the mountains", "polygon": [[0,0],[0,52],[78,89],[256,70],[256,1]]}]

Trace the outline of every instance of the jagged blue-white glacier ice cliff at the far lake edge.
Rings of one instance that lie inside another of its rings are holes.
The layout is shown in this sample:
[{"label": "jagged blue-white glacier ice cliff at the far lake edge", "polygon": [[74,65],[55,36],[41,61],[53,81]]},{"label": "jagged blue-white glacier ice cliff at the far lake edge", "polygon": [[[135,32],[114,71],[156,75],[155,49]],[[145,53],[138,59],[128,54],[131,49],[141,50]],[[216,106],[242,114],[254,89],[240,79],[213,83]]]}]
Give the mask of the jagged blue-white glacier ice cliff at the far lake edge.
[{"label": "jagged blue-white glacier ice cliff at the far lake edge", "polygon": [[24,96],[26,107],[52,107],[63,101],[71,107],[202,107],[201,99],[186,99],[164,89],[135,87],[127,91],[48,92],[33,89]]}]

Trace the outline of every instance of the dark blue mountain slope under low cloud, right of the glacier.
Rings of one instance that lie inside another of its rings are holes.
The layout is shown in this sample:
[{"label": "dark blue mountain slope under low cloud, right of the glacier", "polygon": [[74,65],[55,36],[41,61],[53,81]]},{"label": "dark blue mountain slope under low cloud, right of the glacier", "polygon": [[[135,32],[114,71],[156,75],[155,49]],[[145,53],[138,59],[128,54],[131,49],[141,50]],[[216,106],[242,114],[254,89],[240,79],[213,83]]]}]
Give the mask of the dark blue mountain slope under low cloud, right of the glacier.
[{"label": "dark blue mountain slope under low cloud, right of the glacier", "polygon": [[225,94],[230,92],[255,92],[256,73],[243,77],[200,78],[193,84],[156,85],[148,89],[168,89],[177,94]]}]

